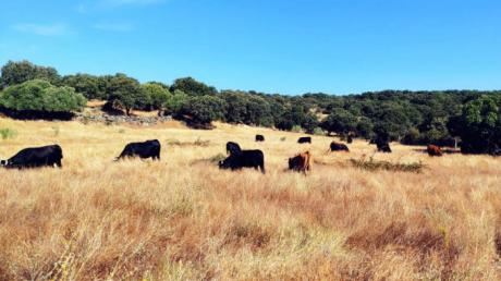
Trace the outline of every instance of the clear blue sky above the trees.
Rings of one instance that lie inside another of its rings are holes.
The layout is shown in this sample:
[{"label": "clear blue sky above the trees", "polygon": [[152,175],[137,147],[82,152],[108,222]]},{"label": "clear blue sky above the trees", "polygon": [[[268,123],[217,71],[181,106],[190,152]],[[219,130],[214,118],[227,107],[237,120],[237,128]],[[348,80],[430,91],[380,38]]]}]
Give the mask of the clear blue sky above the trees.
[{"label": "clear blue sky above the trees", "polygon": [[0,64],[220,89],[500,89],[499,0],[16,0]]}]

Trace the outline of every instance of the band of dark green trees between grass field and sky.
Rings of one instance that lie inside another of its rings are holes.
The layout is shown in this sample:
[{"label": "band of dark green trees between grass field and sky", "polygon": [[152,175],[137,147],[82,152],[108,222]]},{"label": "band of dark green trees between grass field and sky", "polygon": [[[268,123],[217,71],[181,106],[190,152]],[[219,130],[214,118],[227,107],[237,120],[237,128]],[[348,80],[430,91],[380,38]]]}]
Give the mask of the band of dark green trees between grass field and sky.
[{"label": "band of dark green trees between grass field and sky", "polygon": [[83,98],[100,99],[108,101],[108,110],[125,114],[133,109],[157,110],[197,127],[221,120],[341,137],[377,136],[408,145],[454,146],[461,142],[462,150],[473,154],[497,154],[501,147],[501,91],[269,95],[218,90],[191,77],[167,85],[140,84],[125,74],[61,76],[53,68],[28,61],[3,65],[1,85],[0,107],[11,110],[73,111],[83,107]]}]

